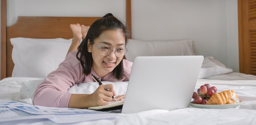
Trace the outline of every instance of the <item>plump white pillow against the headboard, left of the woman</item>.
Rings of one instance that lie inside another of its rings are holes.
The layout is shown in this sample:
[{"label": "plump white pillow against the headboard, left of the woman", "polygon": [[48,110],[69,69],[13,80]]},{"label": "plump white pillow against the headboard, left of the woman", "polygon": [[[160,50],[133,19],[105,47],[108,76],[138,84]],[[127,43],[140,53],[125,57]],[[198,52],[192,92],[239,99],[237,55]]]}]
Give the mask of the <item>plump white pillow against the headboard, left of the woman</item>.
[{"label": "plump white pillow against the headboard, left of the woman", "polygon": [[46,78],[65,59],[72,39],[11,38],[12,77]]}]

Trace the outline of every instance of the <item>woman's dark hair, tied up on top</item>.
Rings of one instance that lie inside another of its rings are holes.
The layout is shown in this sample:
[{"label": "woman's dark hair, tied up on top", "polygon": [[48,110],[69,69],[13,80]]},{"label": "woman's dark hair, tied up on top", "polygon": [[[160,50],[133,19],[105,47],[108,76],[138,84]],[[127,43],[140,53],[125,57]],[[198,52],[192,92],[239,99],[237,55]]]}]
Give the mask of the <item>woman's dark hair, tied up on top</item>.
[{"label": "woman's dark hair, tied up on top", "polygon": [[[85,39],[81,42],[81,44],[78,47],[78,52],[76,53],[76,58],[80,60],[81,65],[83,67],[83,73],[85,75],[89,75],[92,70],[92,53],[88,52],[88,39],[90,40],[90,44],[92,45],[92,41],[99,37],[99,35],[106,31],[106,30],[117,30],[121,29],[124,33],[125,37],[125,45],[127,44],[128,37],[129,37],[129,31],[127,30],[126,26],[119,21],[117,18],[115,18],[112,13],[108,13],[104,15],[101,19],[97,19],[92,25],[90,26],[87,35]],[[80,54],[80,57],[79,57]],[[115,78],[118,80],[123,77],[123,60],[115,67],[115,69],[112,71]]]}]

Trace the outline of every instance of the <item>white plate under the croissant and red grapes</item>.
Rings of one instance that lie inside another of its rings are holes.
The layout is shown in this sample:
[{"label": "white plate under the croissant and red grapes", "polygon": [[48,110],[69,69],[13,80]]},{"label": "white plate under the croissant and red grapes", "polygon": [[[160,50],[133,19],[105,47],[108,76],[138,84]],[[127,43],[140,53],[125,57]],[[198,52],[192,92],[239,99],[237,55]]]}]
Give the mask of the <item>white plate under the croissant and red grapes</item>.
[{"label": "white plate under the croissant and red grapes", "polygon": [[190,103],[191,106],[195,108],[215,108],[215,109],[225,109],[225,108],[235,108],[236,106],[240,106],[243,103],[234,103],[234,104],[224,104],[224,105],[203,105],[203,104],[194,104]]}]

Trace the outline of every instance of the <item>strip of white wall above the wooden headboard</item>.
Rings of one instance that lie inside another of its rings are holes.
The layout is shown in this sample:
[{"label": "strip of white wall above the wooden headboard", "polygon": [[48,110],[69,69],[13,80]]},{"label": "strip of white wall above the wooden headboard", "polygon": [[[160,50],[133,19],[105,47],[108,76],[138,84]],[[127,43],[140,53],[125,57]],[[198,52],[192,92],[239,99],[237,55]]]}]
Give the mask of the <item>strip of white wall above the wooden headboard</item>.
[{"label": "strip of white wall above the wooden headboard", "polygon": [[125,0],[7,0],[7,26],[17,16],[102,17],[112,13],[125,22]]}]

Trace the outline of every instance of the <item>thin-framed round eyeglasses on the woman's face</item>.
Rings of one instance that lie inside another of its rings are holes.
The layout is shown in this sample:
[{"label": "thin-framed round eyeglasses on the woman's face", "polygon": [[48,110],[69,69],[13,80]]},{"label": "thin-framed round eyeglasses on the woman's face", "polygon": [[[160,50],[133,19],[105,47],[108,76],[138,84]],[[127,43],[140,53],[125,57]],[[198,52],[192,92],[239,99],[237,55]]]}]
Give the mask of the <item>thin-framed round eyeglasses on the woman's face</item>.
[{"label": "thin-framed round eyeglasses on the woman's face", "polygon": [[[96,45],[94,42],[92,42],[94,45]],[[113,50],[115,50],[115,55],[117,57],[121,57],[124,56],[126,54],[126,52],[128,51],[126,47],[118,47],[116,49],[112,49],[111,46],[109,45],[103,45],[102,47],[100,47],[99,45],[96,45],[96,47],[99,48],[99,52],[101,53],[101,55],[103,56],[108,56],[111,54],[111,52]]]}]

